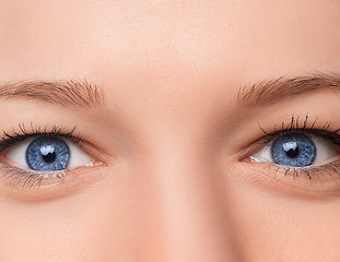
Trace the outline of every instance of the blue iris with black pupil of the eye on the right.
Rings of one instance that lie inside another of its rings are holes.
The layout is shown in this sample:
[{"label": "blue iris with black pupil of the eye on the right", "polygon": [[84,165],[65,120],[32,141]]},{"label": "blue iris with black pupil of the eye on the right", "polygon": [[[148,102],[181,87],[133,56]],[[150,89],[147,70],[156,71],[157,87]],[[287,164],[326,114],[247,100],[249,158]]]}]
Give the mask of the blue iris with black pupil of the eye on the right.
[{"label": "blue iris with black pupil of the eye on the right", "polygon": [[271,145],[273,162],[284,166],[309,166],[316,157],[313,140],[303,133],[286,133],[279,136]]}]

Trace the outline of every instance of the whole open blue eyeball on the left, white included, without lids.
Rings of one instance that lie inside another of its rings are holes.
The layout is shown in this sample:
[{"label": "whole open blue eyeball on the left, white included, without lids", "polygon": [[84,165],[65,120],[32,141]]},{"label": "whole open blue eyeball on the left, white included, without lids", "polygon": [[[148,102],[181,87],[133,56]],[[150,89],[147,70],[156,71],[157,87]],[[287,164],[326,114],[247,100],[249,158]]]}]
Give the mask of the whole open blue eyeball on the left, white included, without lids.
[{"label": "whole open blue eyeball on the left, white included, without lids", "polygon": [[37,171],[57,171],[91,165],[91,157],[58,136],[25,139],[9,147],[4,157],[14,165]]}]

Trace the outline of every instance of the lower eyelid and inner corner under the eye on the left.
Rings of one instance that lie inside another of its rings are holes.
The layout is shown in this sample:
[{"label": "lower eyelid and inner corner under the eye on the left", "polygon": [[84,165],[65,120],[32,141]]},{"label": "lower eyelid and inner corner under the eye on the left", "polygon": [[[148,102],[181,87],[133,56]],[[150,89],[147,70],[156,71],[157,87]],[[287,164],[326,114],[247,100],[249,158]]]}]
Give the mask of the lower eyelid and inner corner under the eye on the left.
[{"label": "lower eyelid and inner corner under the eye on the left", "polygon": [[[86,147],[91,148],[86,150]],[[0,155],[0,193],[4,192],[13,199],[27,195],[27,200],[35,200],[55,198],[81,190],[103,177],[103,171],[98,172],[97,170],[102,170],[106,166],[106,163],[102,160],[102,154],[85,141],[82,150],[90,152],[89,155],[93,159],[92,166],[57,171],[25,170],[7,163]],[[45,191],[46,193],[43,193]]]}]

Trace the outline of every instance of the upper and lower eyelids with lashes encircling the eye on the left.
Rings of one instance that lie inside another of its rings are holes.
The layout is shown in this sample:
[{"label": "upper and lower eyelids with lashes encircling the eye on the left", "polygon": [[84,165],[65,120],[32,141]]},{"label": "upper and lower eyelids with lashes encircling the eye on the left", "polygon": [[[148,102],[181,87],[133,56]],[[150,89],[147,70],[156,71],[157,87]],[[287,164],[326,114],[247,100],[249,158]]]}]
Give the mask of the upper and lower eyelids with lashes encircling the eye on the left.
[{"label": "upper and lower eyelids with lashes encircling the eye on the left", "polygon": [[[75,171],[81,169],[71,167],[67,170],[59,171],[36,171],[28,168],[25,169],[25,166],[17,166],[5,157],[9,150],[16,146],[17,143],[27,143],[30,140],[44,135],[61,138],[65,141],[68,141],[68,145],[72,148],[87,154],[91,160],[89,162],[89,165],[84,166],[85,168],[93,169],[97,166],[106,165],[103,160],[105,154],[91,143],[81,139],[80,133],[75,134],[77,127],[73,127],[71,131],[68,132],[63,132],[61,128],[57,126],[52,126],[51,128],[46,126],[45,128],[42,128],[31,123],[30,128],[31,130],[26,130],[25,126],[22,123],[19,124],[17,130],[13,128],[11,133],[4,131],[2,138],[0,138],[0,180],[3,184],[7,184],[7,187],[32,189],[36,186],[48,186],[50,188],[54,183],[60,184],[66,182],[68,176],[74,177]],[[81,150],[79,147],[81,147]],[[78,178],[80,179],[80,177]],[[70,181],[70,179],[68,179],[68,181]]]}]

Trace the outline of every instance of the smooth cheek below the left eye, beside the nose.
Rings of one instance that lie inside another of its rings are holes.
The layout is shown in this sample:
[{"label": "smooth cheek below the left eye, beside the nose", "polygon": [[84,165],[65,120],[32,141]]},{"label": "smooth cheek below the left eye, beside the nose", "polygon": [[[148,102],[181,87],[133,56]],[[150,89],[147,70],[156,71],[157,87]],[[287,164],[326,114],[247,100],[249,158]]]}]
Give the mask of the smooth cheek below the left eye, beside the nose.
[{"label": "smooth cheek below the left eye, beside the nose", "polygon": [[1,199],[0,260],[132,261],[133,192],[121,175],[67,198],[33,203]]}]

